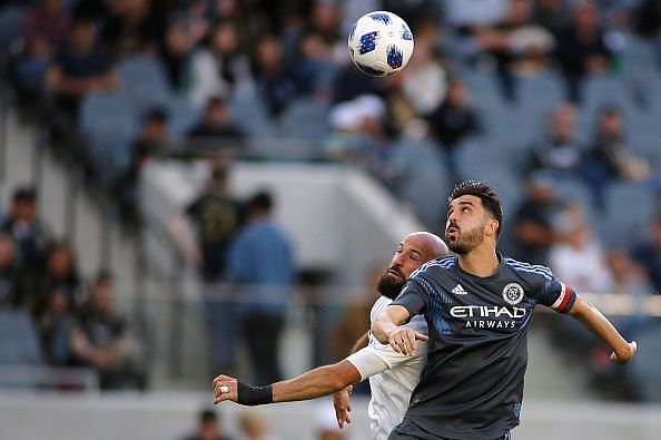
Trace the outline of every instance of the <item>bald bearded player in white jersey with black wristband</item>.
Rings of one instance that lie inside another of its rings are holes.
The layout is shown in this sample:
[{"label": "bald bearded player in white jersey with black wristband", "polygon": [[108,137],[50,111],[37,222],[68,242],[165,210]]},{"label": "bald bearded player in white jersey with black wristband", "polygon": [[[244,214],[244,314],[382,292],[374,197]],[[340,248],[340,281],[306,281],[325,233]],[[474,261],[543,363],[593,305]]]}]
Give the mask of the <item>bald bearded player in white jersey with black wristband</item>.
[{"label": "bald bearded player in white jersey with black wristband", "polygon": [[[374,303],[371,319],[378,315],[399,294],[416,268],[430,260],[447,254],[447,246],[434,234],[417,232],[407,235],[397,246],[387,272],[381,277],[377,290],[382,296]],[[407,325],[420,334],[427,331],[422,316],[411,320]],[[418,342],[417,345],[417,354],[408,356],[369,338],[367,346],[336,364],[320,366],[266,387],[251,387],[228,375],[219,375],[214,380],[214,403],[231,400],[254,405],[308,400],[342,391],[369,378],[372,400],[368,413],[373,439],[385,440],[393,427],[402,421],[424,366],[426,344]],[[337,399],[336,397],[336,414],[342,427],[345,421],[351,422],[351,407],[348,402],[337,402]]]}]

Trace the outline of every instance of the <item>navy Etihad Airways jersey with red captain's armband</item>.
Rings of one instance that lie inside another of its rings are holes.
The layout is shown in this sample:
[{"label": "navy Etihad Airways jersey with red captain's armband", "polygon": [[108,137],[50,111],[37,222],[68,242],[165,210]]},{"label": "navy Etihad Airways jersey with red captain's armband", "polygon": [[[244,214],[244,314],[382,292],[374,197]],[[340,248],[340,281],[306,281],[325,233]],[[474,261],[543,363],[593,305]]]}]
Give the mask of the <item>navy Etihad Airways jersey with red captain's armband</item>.
[{"label": "navy Etihad Airways jersey with red captain's armband", "polygon": [[549,268],[499,258],[486,277],[464,272],[456,256],[428,262],[393,302],[430,327],[428,362],[406,412],[430,438],[495,439],[517,426],[532,311],[574,304]]}]

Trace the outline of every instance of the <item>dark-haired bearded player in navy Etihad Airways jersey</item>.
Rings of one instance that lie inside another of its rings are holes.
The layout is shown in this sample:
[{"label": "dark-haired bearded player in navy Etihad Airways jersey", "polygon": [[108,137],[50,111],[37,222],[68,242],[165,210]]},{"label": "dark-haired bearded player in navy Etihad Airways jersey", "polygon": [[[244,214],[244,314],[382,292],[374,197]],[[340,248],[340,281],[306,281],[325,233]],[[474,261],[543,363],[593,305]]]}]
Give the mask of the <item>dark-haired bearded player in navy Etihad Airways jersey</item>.
[{"label": "dark-haired bearded player in navy Etihad Airways jersey", "polygon": [[424,314],[428,325],[427,365],[388,439],[509,439],[519,424],[526,334],[536,304],[582,322],[613,350],[613,362],[634,356],[635,342],[627,342],[549,268],[496,252],[502,217],[487,184],[457,185],[445,228],[457,255],[421,266],[372,325],[379,342],[405,354],[427,336],[401,324]]}]

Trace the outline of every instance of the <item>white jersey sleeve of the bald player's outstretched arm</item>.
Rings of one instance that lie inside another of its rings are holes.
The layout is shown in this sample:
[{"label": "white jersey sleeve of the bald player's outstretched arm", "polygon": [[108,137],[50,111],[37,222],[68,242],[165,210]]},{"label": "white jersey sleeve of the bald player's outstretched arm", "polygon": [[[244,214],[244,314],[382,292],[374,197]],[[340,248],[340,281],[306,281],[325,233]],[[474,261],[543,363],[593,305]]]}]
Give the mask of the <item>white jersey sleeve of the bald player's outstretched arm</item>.
[{"label": "white jersey sleeve of the bald player's outstretched arm", "polygon": [[389,370],[401,363],[412,362],[414,359],[424,355],[426,350],[423,344],[426,342],[417,341],[417,346],[413,356],[397,353],[391,345],[383,345],[375,341],[364,349],[346,358],[361,373],[361,381],[375,374]]}]

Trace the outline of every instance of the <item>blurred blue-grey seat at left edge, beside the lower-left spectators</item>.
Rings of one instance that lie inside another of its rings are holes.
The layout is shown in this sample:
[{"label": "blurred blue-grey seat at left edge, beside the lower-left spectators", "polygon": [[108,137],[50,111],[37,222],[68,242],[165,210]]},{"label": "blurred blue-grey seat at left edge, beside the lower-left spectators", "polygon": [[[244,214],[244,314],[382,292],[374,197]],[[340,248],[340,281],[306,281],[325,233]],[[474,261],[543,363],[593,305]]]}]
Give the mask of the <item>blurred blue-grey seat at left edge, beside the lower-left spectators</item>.
[{"label": "blurred blue-grey seat at left edge, beside the lower-left spectators", "polygon": [[0,365],[40,365],[43,353],[30,315],[0,310]]}]

